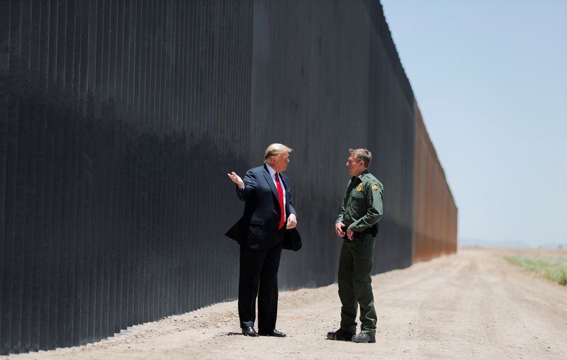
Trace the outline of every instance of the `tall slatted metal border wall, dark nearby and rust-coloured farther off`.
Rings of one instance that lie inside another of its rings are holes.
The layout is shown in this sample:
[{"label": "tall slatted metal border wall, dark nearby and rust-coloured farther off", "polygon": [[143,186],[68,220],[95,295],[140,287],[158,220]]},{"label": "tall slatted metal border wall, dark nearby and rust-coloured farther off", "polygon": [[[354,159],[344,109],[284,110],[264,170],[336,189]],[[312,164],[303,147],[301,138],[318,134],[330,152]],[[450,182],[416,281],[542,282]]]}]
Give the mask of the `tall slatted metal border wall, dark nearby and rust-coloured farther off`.
[{"label": "tall slatted metal border wall, dark nearby and rust-coloured farther off", "polygon": [[281,288],[336,280],[349,147],[385,186],[375,273],[421,259],[422,229],[454,251],[414,103],[376,0],[1,1],[0,353],[234,299],[226,174],[271,142],[293,147],[303,237]]}]

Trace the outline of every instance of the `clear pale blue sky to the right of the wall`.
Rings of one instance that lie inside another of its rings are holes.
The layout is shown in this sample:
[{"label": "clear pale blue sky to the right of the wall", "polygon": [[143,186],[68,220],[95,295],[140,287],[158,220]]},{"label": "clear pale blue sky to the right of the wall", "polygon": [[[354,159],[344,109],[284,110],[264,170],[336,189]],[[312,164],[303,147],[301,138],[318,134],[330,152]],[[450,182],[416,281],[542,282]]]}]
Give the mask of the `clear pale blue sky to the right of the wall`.
[{"label": "clear pale blue sky to the right of the wall", "polygon": [[459,241],[567,244],[567,1],[381,3]]}]

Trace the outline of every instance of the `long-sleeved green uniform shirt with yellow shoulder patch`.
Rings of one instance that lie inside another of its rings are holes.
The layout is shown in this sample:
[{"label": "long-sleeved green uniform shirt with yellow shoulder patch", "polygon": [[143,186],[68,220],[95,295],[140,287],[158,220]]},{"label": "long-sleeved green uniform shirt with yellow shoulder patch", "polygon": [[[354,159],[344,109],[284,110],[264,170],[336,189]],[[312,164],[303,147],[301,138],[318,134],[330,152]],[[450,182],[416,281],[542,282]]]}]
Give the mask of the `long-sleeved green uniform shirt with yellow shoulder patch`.
[{"label": "long-sleeved green uniform shirt with yellow shoulder patch", "polygon": [[347,186],[341,213],[335,223],[344,223],[353,232],[361,232],[382,218],[383,185],[368,170],[353,176]]}]

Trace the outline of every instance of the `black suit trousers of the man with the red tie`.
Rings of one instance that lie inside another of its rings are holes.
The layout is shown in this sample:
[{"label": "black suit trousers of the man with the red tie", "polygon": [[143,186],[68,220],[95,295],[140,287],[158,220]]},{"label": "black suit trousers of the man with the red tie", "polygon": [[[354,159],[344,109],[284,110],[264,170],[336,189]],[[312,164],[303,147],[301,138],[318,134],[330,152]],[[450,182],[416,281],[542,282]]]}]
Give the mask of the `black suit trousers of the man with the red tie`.
[{"label": "black suit trousers of the man with the red tie", "polygon": [[276,328],[278,316],[278,269],[281,247],[269,250],[240,246],[238,316],[240,327],[254,327],[258,297],[258,330]]}]

